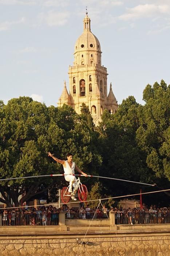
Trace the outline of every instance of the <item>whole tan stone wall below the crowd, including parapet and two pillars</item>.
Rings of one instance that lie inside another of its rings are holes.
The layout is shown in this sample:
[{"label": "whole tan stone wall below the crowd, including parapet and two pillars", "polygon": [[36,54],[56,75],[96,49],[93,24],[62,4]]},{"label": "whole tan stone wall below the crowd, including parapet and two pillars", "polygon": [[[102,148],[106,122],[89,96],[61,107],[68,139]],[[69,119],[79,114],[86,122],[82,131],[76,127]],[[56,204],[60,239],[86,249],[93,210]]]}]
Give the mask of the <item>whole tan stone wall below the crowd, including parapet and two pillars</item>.
[{"label": "whole tan stone wall below the crowd, including parapet and two pillars", "polygon": [[58,226],[1,226],[0,256],[29,255],[169,256],[170,223],[115,225],[114,214],[91,223],[60,213]]}]

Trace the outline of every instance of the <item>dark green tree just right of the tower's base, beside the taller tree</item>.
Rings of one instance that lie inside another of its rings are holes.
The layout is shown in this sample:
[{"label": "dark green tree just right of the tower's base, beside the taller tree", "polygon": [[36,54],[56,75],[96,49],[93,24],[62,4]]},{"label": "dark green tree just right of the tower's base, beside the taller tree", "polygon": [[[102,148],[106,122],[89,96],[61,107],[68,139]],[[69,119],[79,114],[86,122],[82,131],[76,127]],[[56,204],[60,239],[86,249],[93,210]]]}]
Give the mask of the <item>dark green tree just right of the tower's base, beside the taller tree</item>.
[{"label": "dark green tree just right of the tower's base, beside the taller tree", "polygon": [[[148,172],[146,154],[136,142],[139,128],[139,104],[133,96],[123,100],[112,115],[104,110],[99,125],[100,148],[103,157],[100,176],[144,183],[153,183],[154,172]],[[123,181],[101,180],[107,195],[117,196],[139,192],[141,185]]]}]

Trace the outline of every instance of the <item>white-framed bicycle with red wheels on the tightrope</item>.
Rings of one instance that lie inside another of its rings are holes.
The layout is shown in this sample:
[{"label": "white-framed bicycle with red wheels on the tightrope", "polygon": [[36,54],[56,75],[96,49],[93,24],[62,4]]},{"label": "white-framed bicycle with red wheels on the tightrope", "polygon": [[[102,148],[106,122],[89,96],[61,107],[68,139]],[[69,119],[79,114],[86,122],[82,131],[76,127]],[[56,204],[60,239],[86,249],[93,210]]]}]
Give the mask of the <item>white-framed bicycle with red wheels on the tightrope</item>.
[{"label": "white-framed bicycle with red wheels on the tightrope", "polygon": [[78,191],[79,200],[81,202],[86,201],[87,195],[88,195],[87,187],[80,182],[80,178],[79,177],[78,177],[78,179],[76,181],[77,181],[77,185],[73,189],[73,192],[70,195],[68,195],[68,188],[69,188],[69,186],[68,187],[64,187],[62,189],[61,197],[62,197],[62,202],[64,204],[68,203],[70,201],[71,196],[75,196],[77,191]]}]

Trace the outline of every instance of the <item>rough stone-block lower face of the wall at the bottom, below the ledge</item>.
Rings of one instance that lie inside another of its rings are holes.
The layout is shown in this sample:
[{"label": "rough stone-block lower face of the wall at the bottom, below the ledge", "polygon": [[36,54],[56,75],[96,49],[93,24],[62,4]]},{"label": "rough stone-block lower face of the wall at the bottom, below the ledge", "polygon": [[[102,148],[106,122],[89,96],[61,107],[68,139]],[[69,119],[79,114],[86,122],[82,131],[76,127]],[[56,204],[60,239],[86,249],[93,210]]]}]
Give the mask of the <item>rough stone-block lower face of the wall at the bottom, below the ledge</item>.
[{"label": "rough stone-block lower face of the wall at the bottom, below the ledge", "polygon": [[[97,236],[97,235],[96,235]],[[98,235],[99,236],[99,235]],[[81,244],[81,241],[88,244]],[[79,244],[80,243],[80,244]],[[170,236],[1,239],[1,256],[169,256]]]}]

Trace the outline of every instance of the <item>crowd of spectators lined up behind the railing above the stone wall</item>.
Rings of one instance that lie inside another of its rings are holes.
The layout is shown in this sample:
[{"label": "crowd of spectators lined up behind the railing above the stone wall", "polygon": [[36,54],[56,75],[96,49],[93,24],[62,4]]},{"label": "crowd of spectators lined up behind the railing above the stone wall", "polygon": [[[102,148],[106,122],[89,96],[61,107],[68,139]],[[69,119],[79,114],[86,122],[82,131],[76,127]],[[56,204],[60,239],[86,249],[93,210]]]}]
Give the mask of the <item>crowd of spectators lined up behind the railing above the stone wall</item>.
[{"label": "crowd of spectators lined up behind the railing above the stone wall", "polygon": [[97,208],[90,205],[80,205],[79,208],[69,208],[64,204],[60,208],[42,206],[36,208],[15,208],[1,210],[2,224],[14,225],[58,225],[59,213],[65,212],[66,219],[107,219],[110,212],[115,213],[115,224],[154,224],[170,223],[170,207],[158,208],[154,205],[142,208],[113,208],[105,205]]}]

